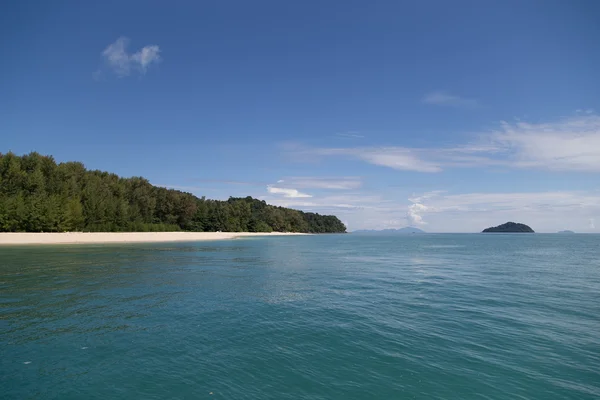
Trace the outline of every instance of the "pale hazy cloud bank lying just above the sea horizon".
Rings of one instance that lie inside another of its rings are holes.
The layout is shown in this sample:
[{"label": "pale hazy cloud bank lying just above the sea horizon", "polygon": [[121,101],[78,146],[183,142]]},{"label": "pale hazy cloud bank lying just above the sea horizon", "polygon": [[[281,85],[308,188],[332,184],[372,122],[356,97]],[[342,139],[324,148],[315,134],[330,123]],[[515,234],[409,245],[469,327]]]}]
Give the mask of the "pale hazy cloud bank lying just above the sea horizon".
[{"label": "pale hazy cloud bank lying just above the sea horizon", "polygon": [[458,193],[431,191],[407,200],[397,195],[350,192],[305,198],[263,196],[270,204],[333,213],[350,230],[417,226],[429,232],[480,232],[507,221],[537,232],[595,232],[600,191]]}]

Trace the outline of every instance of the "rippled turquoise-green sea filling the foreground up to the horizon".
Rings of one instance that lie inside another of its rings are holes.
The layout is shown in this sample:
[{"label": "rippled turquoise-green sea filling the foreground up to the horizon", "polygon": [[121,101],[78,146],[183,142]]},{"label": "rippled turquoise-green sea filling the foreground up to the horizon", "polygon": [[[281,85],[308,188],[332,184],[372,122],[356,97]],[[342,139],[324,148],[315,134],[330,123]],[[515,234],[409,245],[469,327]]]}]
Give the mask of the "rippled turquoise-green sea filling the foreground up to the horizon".
[{"label": "rippled turquoise-green sea filling the foreground up to the horizon", "polygon": [[0,247],[2,399],[599,399],[600,236]]}]

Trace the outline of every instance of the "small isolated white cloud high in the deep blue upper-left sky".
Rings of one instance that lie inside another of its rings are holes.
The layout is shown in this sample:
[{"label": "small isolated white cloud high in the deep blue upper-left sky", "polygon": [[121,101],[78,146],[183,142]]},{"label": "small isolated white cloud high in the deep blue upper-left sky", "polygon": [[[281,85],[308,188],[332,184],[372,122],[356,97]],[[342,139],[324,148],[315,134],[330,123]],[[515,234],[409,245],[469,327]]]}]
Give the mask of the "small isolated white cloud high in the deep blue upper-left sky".
[{"label": "small isolated white cloud high in the deep blue upper-left sky", "polygon": [[132,72],[144,74],[151,64],[161,60],[160,48],[156,45],[144,46],[135,53],[128,53],[128,44],[129,39],[120,37],[102,52],[106,65],[119,77],[128,76]]}]

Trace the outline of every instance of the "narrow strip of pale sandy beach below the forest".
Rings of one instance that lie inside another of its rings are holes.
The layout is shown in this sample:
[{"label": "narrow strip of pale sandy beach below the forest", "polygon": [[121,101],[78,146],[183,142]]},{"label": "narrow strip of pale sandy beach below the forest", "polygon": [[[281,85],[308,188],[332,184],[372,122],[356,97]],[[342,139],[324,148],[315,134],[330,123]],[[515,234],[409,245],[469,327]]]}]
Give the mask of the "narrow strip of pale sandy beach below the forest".
[{"label": "narrow strip of pale sandy beach below the forest", "polygon": [[0,233],[0,246],[36,244],[166,243],[229,240],[241,237],[296,236],[307,233],[259,232],[64,232]]}]

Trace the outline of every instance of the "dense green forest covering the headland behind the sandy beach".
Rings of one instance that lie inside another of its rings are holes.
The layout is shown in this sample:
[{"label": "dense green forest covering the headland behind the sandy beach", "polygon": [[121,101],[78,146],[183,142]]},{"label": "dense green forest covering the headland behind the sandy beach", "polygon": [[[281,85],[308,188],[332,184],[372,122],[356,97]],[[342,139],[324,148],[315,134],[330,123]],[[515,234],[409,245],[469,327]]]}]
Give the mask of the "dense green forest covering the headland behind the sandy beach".
[{"label": "dense green forest covering the headland behind the sandy beach", "polygon": [[38,153],[0,153],[0,232],[345,232],[335,216],[227,201],[153,186],[144,178],[57,164]]}]

